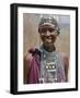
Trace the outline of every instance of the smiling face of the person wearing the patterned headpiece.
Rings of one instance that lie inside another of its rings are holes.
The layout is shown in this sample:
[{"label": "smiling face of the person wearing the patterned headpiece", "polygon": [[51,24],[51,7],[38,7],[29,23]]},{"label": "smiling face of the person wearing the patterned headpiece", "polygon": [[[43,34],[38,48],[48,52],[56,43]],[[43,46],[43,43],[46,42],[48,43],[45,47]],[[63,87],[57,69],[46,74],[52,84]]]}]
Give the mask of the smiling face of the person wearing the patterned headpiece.
[{"label": "smiling face of the person wearing the patterned headpiece", "polygon": [[39,35],[43,45],[49,48],[54,46],[54,42],[58,36],[56,27],[52,24],[43,25],[43,27],[39,29]]}]

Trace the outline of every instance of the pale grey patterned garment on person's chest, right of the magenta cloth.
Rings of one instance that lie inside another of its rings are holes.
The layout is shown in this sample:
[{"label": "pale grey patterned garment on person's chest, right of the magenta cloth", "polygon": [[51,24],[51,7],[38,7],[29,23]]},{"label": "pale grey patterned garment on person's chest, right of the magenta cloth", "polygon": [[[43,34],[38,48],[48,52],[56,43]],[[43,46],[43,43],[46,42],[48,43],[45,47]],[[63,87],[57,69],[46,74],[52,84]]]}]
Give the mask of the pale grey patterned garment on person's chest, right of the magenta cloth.
[{"label": "pale grey patterned garment on person's chest, right of the magenta cloth", "polygon": [[58,52],[57,51],[47,52],[42,46],[39,83],[57,83],[59,69],[62,71],[65,79],[65,71]]}]

